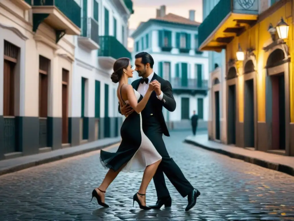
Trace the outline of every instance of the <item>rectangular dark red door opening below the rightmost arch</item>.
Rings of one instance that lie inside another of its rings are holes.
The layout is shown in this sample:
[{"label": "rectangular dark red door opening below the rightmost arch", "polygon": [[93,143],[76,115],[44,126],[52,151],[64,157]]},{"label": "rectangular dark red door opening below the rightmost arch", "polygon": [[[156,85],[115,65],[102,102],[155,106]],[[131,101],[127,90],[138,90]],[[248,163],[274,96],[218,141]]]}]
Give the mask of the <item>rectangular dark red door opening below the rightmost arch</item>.
[{"label": "rectangular dark red door opening below the rightmost arch", "polygon": [[272,76],[272,149],[285,150],[285,78]]}]

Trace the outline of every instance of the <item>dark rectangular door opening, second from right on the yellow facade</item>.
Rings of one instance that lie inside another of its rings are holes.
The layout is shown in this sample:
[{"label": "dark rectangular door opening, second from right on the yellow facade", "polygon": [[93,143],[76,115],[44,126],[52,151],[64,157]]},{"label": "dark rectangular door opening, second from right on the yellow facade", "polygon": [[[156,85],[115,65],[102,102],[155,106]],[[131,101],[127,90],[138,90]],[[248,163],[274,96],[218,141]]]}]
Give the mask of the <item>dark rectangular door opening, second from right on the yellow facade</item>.
[{"label": "dark rectangular door opening, second from right on the yellow facade", "polygon": [[254,89],[253,79],[245,81],[244,88],[244,145],[254,147]]}]

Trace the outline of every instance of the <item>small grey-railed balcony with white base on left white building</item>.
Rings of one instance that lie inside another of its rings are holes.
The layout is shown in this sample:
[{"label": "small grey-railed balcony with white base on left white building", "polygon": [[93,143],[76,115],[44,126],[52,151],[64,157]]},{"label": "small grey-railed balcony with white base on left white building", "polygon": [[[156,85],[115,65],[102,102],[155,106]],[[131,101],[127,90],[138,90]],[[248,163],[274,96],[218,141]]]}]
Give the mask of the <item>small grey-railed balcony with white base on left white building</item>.
[{"label": "small grey-railed balcony with white base on left white building", "polygon": [[82,34],[78,37],[78,44],[91,50],[99,49],[98,22],[93,18],[82,18],[81,20]]}]

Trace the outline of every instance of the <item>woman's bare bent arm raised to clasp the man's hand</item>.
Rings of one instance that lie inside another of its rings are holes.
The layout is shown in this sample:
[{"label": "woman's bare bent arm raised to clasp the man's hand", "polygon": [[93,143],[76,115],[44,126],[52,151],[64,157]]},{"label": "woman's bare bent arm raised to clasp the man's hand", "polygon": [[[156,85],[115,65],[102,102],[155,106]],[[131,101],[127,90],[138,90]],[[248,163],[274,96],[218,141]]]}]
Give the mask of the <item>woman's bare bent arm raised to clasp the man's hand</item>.
[{"label": "woman's bare bent arm raised to clasp the man's hand", "polygon": [[[149,88],[150,87],[151,86],[149,86]],[[143,99],[138,103],[138,100],[136,98],[136,95],[134,93],[134,89],[133,89],[132,85],[126,85],[126,87],[125,87],[126,94],[128,97],[128,103],[137,113],[140,113],[145,108],[145,106],[150,98],[150,95],[153,90],[150,90],[149,88],[148,88],[145,96],[143,97]]]}]

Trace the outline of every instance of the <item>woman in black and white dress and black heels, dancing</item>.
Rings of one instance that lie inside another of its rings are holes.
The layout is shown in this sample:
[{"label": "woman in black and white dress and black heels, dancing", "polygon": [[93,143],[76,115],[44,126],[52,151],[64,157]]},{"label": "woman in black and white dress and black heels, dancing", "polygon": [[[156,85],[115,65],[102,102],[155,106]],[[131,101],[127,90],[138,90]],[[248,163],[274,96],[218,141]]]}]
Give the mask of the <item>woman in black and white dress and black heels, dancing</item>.
[{"label": "woman in black and white dress and black heels, dancing", "polygon": [[143,133],[141,111],[145,108],[153,91],[153,83],[149,83],[146,95],[143,97],[132,85],[128,78],[133,77],[133,69],[128,58],[120,58],[113,65],[111,80],[119,83],[117,96],[121,106],[128,103],[135,111],[131,113],[121,126],[121,144],[115,153],[101,150],[100,160],[108,172],[98,188],[92,192],[92,199],[96,197],[98,204],[108,207],[104,202],[107,187],[120,171],[144,170],[139,191],[133,196],[133,202],[138,202],[141,209],[149,210],[146,206],[146,189],[153,178],[162,157],[151,141]]}]

